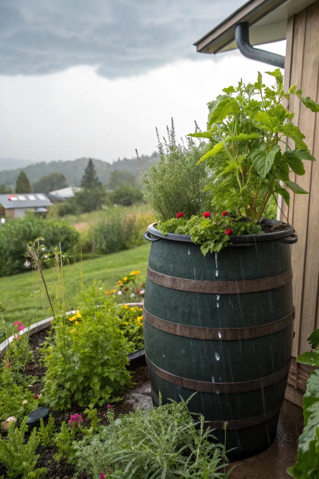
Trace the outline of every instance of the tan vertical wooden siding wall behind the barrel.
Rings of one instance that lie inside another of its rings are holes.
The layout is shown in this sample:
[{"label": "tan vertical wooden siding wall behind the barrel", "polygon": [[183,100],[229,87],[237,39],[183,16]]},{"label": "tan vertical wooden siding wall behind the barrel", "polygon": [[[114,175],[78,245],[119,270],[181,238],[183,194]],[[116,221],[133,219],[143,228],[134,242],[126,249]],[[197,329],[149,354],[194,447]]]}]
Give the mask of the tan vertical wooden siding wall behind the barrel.
[{"label": "tan vertical wooden siding wall behind the barrel", "polygon": [[[286,35],[285,89],[297,83],[303,96],[319,101],[319,0],[288,19]],[[308,110],[297,97],[291,96],[289,110],[295,112],[294,123],[306,136],[306,143],[317,162],[306,161],[304,176],[291,174],[309,194],[291,193],[290,205],[282,205],[289,222],[296,229],[297,244],[291,247],[294,305],[296,307],[293,361],[288,383],[305,390],[304,366],[294,358],[309,351],[307,338],[319,328],[319,114]],[[290,148],[295,148],[288,139]],[[285,221],[281,214],[280,218]]]}]

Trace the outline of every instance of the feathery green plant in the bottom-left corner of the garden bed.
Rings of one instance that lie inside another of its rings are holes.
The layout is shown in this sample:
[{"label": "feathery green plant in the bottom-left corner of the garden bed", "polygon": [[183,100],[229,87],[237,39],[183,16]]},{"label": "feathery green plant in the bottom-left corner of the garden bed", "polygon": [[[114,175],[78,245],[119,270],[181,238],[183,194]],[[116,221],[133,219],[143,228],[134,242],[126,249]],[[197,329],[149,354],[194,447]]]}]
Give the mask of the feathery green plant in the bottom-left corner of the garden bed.
[{"label": "feathery green plant in the bottom-left corner of the garden bed", "polygon": [[39,445],[36,428],[33,429],[27,442],[25,433],[28,430],[25,417],[19,428],[14,423],[9,425],[8,437],[0,437],[0,461],[7,469],[8,478],[38,479],[45,477],[47,468],[36,468],[40,454],[35,454]]}]

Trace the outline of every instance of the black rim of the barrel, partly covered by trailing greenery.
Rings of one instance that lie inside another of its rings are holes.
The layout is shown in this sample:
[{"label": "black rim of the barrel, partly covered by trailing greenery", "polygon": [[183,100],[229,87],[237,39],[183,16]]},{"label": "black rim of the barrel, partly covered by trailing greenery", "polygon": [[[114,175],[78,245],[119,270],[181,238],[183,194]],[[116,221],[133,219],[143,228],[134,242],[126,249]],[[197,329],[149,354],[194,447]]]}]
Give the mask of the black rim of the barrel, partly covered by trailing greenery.
[{"label": "black rim of the barrel, partly covered by trailing greenery", "polygon": [[[283,224],[283,221],[273,220],[275,224]],[[147,231],[157,238],[169,239],[172,241],[182,241],[187,243],[192,243],[190,235],[177,235],[176,233],[166,233],[164,236],[162,231],[155,228],[157,222],[151,223],[147,227]],[[275,231],[274,233],[263,233],[260,235],[242,235],[242,236],[232,236],[231,242],[228,247],[235,246],[236,244],[242,243],[263,243],[264,241],[276,241],[277,239],[283,239],[289,237],[294,233],[294,228],[290,225],[289,228],[283,229],[282,231]]]}]

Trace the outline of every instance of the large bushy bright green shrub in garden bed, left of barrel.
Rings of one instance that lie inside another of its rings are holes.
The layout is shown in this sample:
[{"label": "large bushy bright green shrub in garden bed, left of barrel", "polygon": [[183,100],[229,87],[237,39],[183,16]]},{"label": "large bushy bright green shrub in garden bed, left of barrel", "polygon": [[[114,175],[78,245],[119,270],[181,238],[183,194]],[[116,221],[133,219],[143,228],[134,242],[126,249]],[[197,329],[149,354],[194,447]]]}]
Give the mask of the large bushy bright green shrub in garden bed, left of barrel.
[{"label": "large bushy bright green shrub in garden bed, left of barrel", "polygon": [[117,317],[114,297],[93,285],[82,292],[79,312],[58,317],[53,323],[54,343],[48,347],[44,365],[44,400],[53,410],[77,403],[103,405],[119,400],[131,385],[128,344]]}]

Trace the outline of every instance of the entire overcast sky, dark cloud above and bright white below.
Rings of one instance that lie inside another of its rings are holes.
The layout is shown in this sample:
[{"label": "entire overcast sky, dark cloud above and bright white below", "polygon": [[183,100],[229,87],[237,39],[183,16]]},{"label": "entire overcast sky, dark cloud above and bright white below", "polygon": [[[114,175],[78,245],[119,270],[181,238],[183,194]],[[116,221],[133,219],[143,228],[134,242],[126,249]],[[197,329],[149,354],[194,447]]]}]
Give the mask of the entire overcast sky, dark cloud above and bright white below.
[{"label": "entire overcast sky, dark cloud above and bright white below", "polygon": [[152,153],[171,116],[204,128],[223,87],[271,69],[192,45],[243,3],[0,0],[0,158],[112,161]]}]

